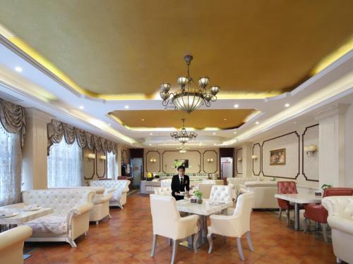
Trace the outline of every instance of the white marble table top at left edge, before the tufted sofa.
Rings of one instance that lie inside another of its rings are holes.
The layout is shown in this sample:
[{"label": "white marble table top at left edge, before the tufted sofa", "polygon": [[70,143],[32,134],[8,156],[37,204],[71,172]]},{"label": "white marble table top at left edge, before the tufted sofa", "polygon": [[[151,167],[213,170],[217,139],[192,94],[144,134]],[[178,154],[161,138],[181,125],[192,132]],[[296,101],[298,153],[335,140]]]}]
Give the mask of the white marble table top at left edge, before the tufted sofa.
[{"label": "white marble table top at left edge, before the tufted sofa", "polygon": [[24,222],[28,222],[35,218],[40,218],[44,215],[49,215],[54,212],[53,208],[40,208],[39,210],[25,211],[23,210],[25,206],[25,203],[14,203],[8,206],[0,207],[0,210],[6,209],[18,213],[11,218],[0,218],[0,225],[22,225]]}]

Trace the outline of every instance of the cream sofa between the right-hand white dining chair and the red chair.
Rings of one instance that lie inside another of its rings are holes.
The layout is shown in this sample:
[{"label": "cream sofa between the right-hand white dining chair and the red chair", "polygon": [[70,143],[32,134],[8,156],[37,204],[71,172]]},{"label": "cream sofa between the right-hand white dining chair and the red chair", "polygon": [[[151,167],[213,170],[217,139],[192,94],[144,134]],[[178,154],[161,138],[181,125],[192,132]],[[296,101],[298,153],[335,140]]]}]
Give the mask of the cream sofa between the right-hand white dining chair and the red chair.
[{"label": "cream sofa between the right-hand white dining chair and the red chair", "polygon": [[273,181],[256,181],[245,182],[243,187],[239,187],[239,192],[253,192],[255,195],[253,208],[254,209],[273,209],[278,208],[277,199],[277,182]]}]

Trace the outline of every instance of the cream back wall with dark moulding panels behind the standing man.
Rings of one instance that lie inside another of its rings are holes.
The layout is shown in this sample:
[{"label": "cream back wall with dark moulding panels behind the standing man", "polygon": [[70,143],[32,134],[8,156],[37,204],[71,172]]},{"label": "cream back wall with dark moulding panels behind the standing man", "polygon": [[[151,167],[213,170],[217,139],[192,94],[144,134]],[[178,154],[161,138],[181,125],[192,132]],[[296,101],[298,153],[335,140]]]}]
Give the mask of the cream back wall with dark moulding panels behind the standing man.
[{"label": "cream back wall with dark moulding panels behind the standing man", "polygon": [[[144,149],[144,168],[147,172],[176,173],[174,161],[176,159],[189,159],[189,168],[186,173],[218,173],[219,174],[219,150],[199,149],[180,153],[175,149]],[[155,159],[155,163],[150,163],[150,159]],[[208,162],[207,160],[213,159]],[[190,168],[191,167],[191,168]]]}]

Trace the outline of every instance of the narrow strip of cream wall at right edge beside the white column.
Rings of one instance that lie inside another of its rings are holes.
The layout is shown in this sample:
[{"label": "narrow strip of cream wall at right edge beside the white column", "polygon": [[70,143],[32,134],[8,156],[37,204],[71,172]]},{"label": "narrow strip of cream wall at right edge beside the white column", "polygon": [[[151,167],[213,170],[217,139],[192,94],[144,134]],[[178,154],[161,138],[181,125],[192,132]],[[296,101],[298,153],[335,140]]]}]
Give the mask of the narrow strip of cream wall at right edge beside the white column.
[{"label": "narrow strip of cream wall at right edge beside the white column", "polygon": [[353,188],[353,105],[347,108],[345,119],[345,186]]}]

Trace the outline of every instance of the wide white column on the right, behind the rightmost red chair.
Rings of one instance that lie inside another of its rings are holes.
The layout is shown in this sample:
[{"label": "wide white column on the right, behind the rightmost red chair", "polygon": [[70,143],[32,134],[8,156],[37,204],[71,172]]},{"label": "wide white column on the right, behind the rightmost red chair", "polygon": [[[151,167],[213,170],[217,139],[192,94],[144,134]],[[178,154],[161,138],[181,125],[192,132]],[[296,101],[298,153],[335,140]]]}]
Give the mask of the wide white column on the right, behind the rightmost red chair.
[{"label": "wide white column on the right, behind the rightmost red chair", "polygon": [[345,113],[348,105],[336,104],[316,115],[319,122],[319,187],[345,187]]}]

